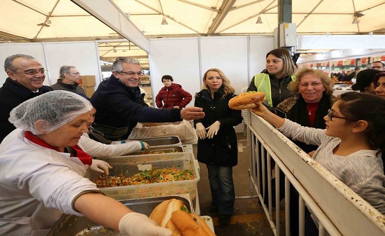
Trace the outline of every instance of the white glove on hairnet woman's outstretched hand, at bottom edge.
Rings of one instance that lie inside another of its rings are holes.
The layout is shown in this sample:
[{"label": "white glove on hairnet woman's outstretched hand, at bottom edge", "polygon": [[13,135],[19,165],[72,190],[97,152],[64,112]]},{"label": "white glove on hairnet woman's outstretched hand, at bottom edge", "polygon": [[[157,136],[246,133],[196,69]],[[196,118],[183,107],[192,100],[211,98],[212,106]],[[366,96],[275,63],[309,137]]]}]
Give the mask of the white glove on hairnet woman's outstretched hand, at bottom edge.
[{"label": "white glove on hairnet woman's outstretched hand, at bottom edge", "polygon": [[128,236],[171,236],[169,229],[157,226],[155,221],[140,213],[129,213],[119,221],[119,231]]}]

